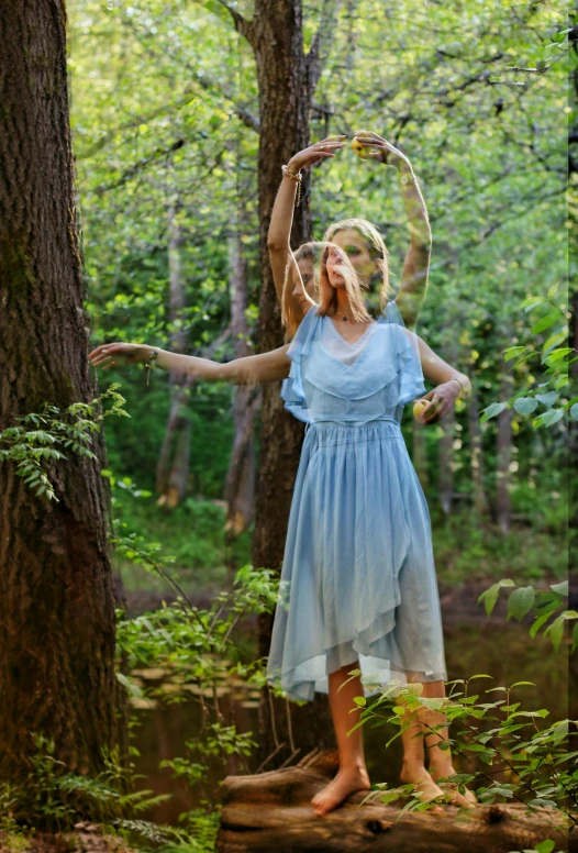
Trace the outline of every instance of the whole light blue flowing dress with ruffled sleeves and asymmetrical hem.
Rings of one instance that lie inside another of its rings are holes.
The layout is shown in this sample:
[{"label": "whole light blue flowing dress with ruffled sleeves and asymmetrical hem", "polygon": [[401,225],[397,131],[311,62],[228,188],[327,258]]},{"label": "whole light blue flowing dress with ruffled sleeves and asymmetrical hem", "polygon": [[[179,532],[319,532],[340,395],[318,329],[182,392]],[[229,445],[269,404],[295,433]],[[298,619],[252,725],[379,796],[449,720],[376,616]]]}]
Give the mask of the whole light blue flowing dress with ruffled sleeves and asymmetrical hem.
[{"label": "whole light blue flowing dress with ruffled sleeves and asymmetrical hem", "polygon": [[430,513],[400,428],[425,394],[416,336],[394,302],[353,345],[313,307],[287,354],[281,396],[308,427],[267,680],[297,700],[357,661],[365,696],[445,680]]}]

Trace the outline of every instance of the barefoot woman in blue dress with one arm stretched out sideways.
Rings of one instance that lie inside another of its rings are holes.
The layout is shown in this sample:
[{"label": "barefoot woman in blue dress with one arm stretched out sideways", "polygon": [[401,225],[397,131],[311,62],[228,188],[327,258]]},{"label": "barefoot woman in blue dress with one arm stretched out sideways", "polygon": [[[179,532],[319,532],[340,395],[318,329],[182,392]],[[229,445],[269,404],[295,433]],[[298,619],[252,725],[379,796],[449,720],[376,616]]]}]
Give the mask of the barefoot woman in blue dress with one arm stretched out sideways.
[{"label": "barefoot woman in blue dress with one arm stretched out sideways", "polygon": [[[294,698],[311,698],[315,689],[330,693],[341,767],[336,778],[312,801],[315,812],[322,815],[353,790],[369,787],[362,731],[346,736],[355,722],[351,714],[353,697],[364,693],[358,677],[347,677],[355,668],[358,649],[363,668],[378,669],[381,683],[393,672],[410,678],[418,675],[425,688],[444,684],[427,509],[399,429],[404,402],[423,390],[423,342],[419,343],[401,325],[371,321],[357,277],[347,256],[336,246],[323,259],[319,312],[291,258],[286,286],[299,299],[304,319],[289,348],[291,375],[284,385],[284,396],[288,408],[299,412],[310,427],[296,483],[281,576],[281,591],[289,590],[297,606],[288,611],[277,609],[268,676],[271,682],[280,682]],[[335,315],[348,317],[352,333],[347,343],[336,330]],[[90,357],[95,365],[113,366],[121,361],[147,361],[153,352],[146,345],[103,344]],[[157,364],[201,379],[274,381],[288,376],[287,352],[287,347],[280,347],[219,365],[157,351]],[[324,357],[321,365],[319,356]],[[468,384],[467,377],[435,357],[424,364],[424,373],[432,381]],[[333,383],[331,387],[327,381]],[[359,384],[362,397],[356,396]],[[345,395],[347,389],[353,392],[353,405],[346,396],[340,396],[343,389]],[[355,400],[362,400],[360,409]],[[337,473],[338,478],[332,479]],[[344,494],[356,495],[353,509],[343,502],[337,506],[336,499]],[[321,519],[323,523],[319,523]],[[335,564],[337,558],[341,562]],[[325,622],[319,618],[320,607]],[[354,610],[353,623],[348,608]],[[368,618],[371,621],[364,627],[362,622]],[[329,653],[326,636],[320,630],[336,640]],[[352,631],[357,634],[355,640],[344,639],[343,632]],[[371,638],[368,631],[375,635]],[[393,646],[398,646],[401,657],[394,658]],[[303,674],[299,672],[303,666],[299,657],[304,654],[307,663],[312,649],[319,654],[313,655],[309,675]],[[287,655],[291,661],[286,665]],[[320,657],[323,660],[315,660]],[[433,695],[438,696],[440,691]],[[436,724],[440,720],[432,716],[429,722]],[[405,760],[401,778],[413,782],[423,798],[431,799],[442,795],[442,790],[425,771],[423,740],[412,739],[412,734],[415,731],[403,734]],[[454,772],[448,753],[435,745],[440,736],[446,734],[431,735],[429,744],[430,773],[437,778]],[[455,801],[466,805],[467,798],[456,794]]]}]

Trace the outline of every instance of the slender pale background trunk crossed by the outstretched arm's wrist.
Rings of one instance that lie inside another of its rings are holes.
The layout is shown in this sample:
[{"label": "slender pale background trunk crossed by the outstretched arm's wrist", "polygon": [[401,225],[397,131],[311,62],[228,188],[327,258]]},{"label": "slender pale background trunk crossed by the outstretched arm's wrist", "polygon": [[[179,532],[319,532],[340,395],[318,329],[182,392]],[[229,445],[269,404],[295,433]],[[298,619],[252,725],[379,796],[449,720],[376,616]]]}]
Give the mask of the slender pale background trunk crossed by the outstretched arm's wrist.
[{"label": "slender pale background trunk crossed by the outstretched arm's wrist", "polygon": [[[175,353],[184,353],[187,346],[187,332],[182,325],[185,284],[180,262],[182,241],[178,220],[178,199],[176,198],[169,203],[167,224],[169,319],[174,330],[170,336],[170,348]],[[173,509],[185,499],[189,481],[191,383],[175,374],[169,374],[168,380],[170,384],[170,409],[158,457],[156,487],[160,494],[158,503]]]}]

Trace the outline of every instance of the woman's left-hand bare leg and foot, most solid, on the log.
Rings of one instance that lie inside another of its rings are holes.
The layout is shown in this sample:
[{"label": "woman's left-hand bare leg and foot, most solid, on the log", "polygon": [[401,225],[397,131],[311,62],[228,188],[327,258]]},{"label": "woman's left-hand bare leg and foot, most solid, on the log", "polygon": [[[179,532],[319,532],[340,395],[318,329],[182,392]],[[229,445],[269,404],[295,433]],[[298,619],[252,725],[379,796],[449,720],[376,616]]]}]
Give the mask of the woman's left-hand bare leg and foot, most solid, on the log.
[{"label": "woman's left-hand bare leg and foot, most solid, on the log", "polygon": [[369,790],[369,776],[365,766],[363,725],[347,738],[347,732],[359,720],[359,711],[355,708],[354,697],[363,696],[364,688],[359,676],[352,678],[338,693],[338,688],[348,679],[347,673],[358,668],[358,663],[342,666],[330,673],[330,707],[335,730],[335,739],[340,751],[340,771],[330,784],[315,794],[311,800],[315,815],[325,815],[355,790]]}]

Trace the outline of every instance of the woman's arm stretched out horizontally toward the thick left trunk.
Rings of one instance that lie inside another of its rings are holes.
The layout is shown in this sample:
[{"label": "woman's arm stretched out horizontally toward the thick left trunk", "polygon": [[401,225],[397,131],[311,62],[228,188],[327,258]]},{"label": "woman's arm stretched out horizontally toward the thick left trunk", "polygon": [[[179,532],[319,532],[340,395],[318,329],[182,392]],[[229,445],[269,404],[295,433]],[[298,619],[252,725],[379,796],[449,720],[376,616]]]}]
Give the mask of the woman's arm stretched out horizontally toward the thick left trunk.
[{"label": "woman's arm stretched out horizontally toward the thick left trunk", "polygon": [[95,367],[115,367],[120,364],[146,362],[156,350],[156,366],[177,376],[188,376],[203,381],[229,381],[235,385],[275,383],[289,376],[288,345],[259,355],[248,355],[220,364],[209,358],[180,355],[147,344],[101,344],[90,353]]}]

